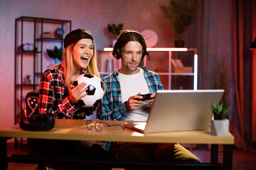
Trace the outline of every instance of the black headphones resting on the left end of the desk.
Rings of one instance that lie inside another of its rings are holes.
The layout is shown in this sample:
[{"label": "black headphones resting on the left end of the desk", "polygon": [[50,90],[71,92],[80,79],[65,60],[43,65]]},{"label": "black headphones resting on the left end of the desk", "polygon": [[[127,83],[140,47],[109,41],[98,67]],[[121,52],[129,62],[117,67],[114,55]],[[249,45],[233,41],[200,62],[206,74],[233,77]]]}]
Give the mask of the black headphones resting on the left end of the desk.
[{"label": "black headphones resting on the left end of the desk", "polygon": [[[30,94],[33,93],[33,94]],[[19,123],[20,128],[23,130],[29,131],[46,131],[54,128],[55,125],[55,118],[53,113],[50,111],[46,114],[40,114],[38,112],[38,108],[36,111],[32,112],[31,108],[28,107],[28,100],[29,96],[39,96],[38,91],[29,92],[26,96],[26,114],[28,115],[28,119],[22,119]]]}]

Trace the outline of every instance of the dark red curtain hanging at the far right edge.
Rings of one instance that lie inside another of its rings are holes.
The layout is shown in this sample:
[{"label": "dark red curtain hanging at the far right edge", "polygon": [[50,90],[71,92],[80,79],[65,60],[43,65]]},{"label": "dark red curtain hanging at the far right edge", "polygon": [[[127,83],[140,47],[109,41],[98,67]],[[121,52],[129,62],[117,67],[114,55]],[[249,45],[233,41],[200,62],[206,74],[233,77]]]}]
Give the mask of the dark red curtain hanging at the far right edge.
[{"label": "dark red curtain hanging at the far right edge", "polygon": [[231,133],[235,146],[240,149],[253,147],[256,135],[256,56],[249,50],[255,38],[255,1],[237,0],[234,4],[234,71],[235,103]]}]

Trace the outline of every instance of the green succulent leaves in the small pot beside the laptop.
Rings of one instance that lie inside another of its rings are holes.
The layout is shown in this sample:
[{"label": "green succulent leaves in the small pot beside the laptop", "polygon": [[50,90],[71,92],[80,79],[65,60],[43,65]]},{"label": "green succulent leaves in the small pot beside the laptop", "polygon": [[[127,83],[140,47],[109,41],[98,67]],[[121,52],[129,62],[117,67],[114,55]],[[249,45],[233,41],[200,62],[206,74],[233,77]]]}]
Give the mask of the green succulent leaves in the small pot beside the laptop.
[{"label": "green succulent leaves in the small pot beside the laptop", "polygon": [[220,103],[217,105],[215,103],[213,103],[211,106],[211,111],[213,112],[215,120],[223,120],[224,118],[228,118],[229,110],[230,110],[230,108],[223,107],[223,103]]}]

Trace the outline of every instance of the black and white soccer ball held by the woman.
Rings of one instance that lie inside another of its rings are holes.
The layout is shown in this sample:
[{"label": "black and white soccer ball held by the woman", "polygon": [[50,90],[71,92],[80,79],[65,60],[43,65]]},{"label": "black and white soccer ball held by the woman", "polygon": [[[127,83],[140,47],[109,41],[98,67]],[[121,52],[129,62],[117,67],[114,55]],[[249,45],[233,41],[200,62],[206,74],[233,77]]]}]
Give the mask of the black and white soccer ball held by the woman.
[{"label": "black and white soccer ball held by the woman", "polygon": [[80,74],[73,81],[74,86],[85,82],[87,87],[87,96],[81,98],[78,104],[85,108],[97,106],[100,103],[101,98],[104,96],[104,83],[98,77],[93,74]]}]

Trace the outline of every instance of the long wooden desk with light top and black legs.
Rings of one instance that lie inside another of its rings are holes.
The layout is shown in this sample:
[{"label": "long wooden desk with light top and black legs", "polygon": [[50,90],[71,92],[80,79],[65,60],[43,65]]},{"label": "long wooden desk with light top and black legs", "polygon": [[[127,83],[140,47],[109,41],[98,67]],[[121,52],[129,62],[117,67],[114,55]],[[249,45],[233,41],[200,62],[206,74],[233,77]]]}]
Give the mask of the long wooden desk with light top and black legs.
[{"label": "long wooden desk with light top and black legs", "polygon": [[[123,125],[124,123],[124,121],[105,122],[110,125]],[[6,157],[6,140],[9,137],[27,137],[50,140],[211,144],[211,164],[218,163],[218,145],[221,144],[224,146],[223,169],[232,169],[234,137],[231,134],[226,137],[217,137],[210,135],[210,130],[142,134],[129,129],[122,130],[122,128],[118,126],[105,127],[101,132],[97,132],[95,128],[87,130],[85,123],[86,120],[56,120],[55,128],[43,132],[21,130],[19,125],[14,125],[0,130],[0,166],[4,167],[6,162],[9,160],[9,158]]]}]

